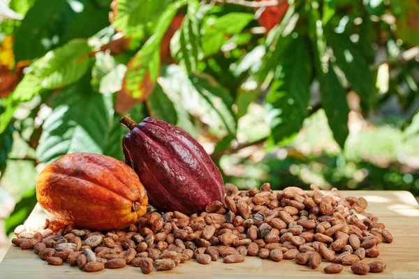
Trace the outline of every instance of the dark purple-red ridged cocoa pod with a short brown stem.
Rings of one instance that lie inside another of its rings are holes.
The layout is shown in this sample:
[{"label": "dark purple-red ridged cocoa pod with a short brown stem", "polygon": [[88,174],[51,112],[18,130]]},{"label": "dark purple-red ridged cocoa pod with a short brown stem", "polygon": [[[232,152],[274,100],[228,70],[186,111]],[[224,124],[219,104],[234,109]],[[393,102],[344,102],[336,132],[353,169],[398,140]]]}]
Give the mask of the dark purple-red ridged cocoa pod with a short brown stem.
[{"label": "dark purple-red ridged cocoa pod with a short brown stem", "polygon": [[152,206],[190,215],[223,200],[221,173],[190,134],[153,117],[136,124],[127,115],[120,122],[131,130],[122,142],[125,162],[140,177]]}]

